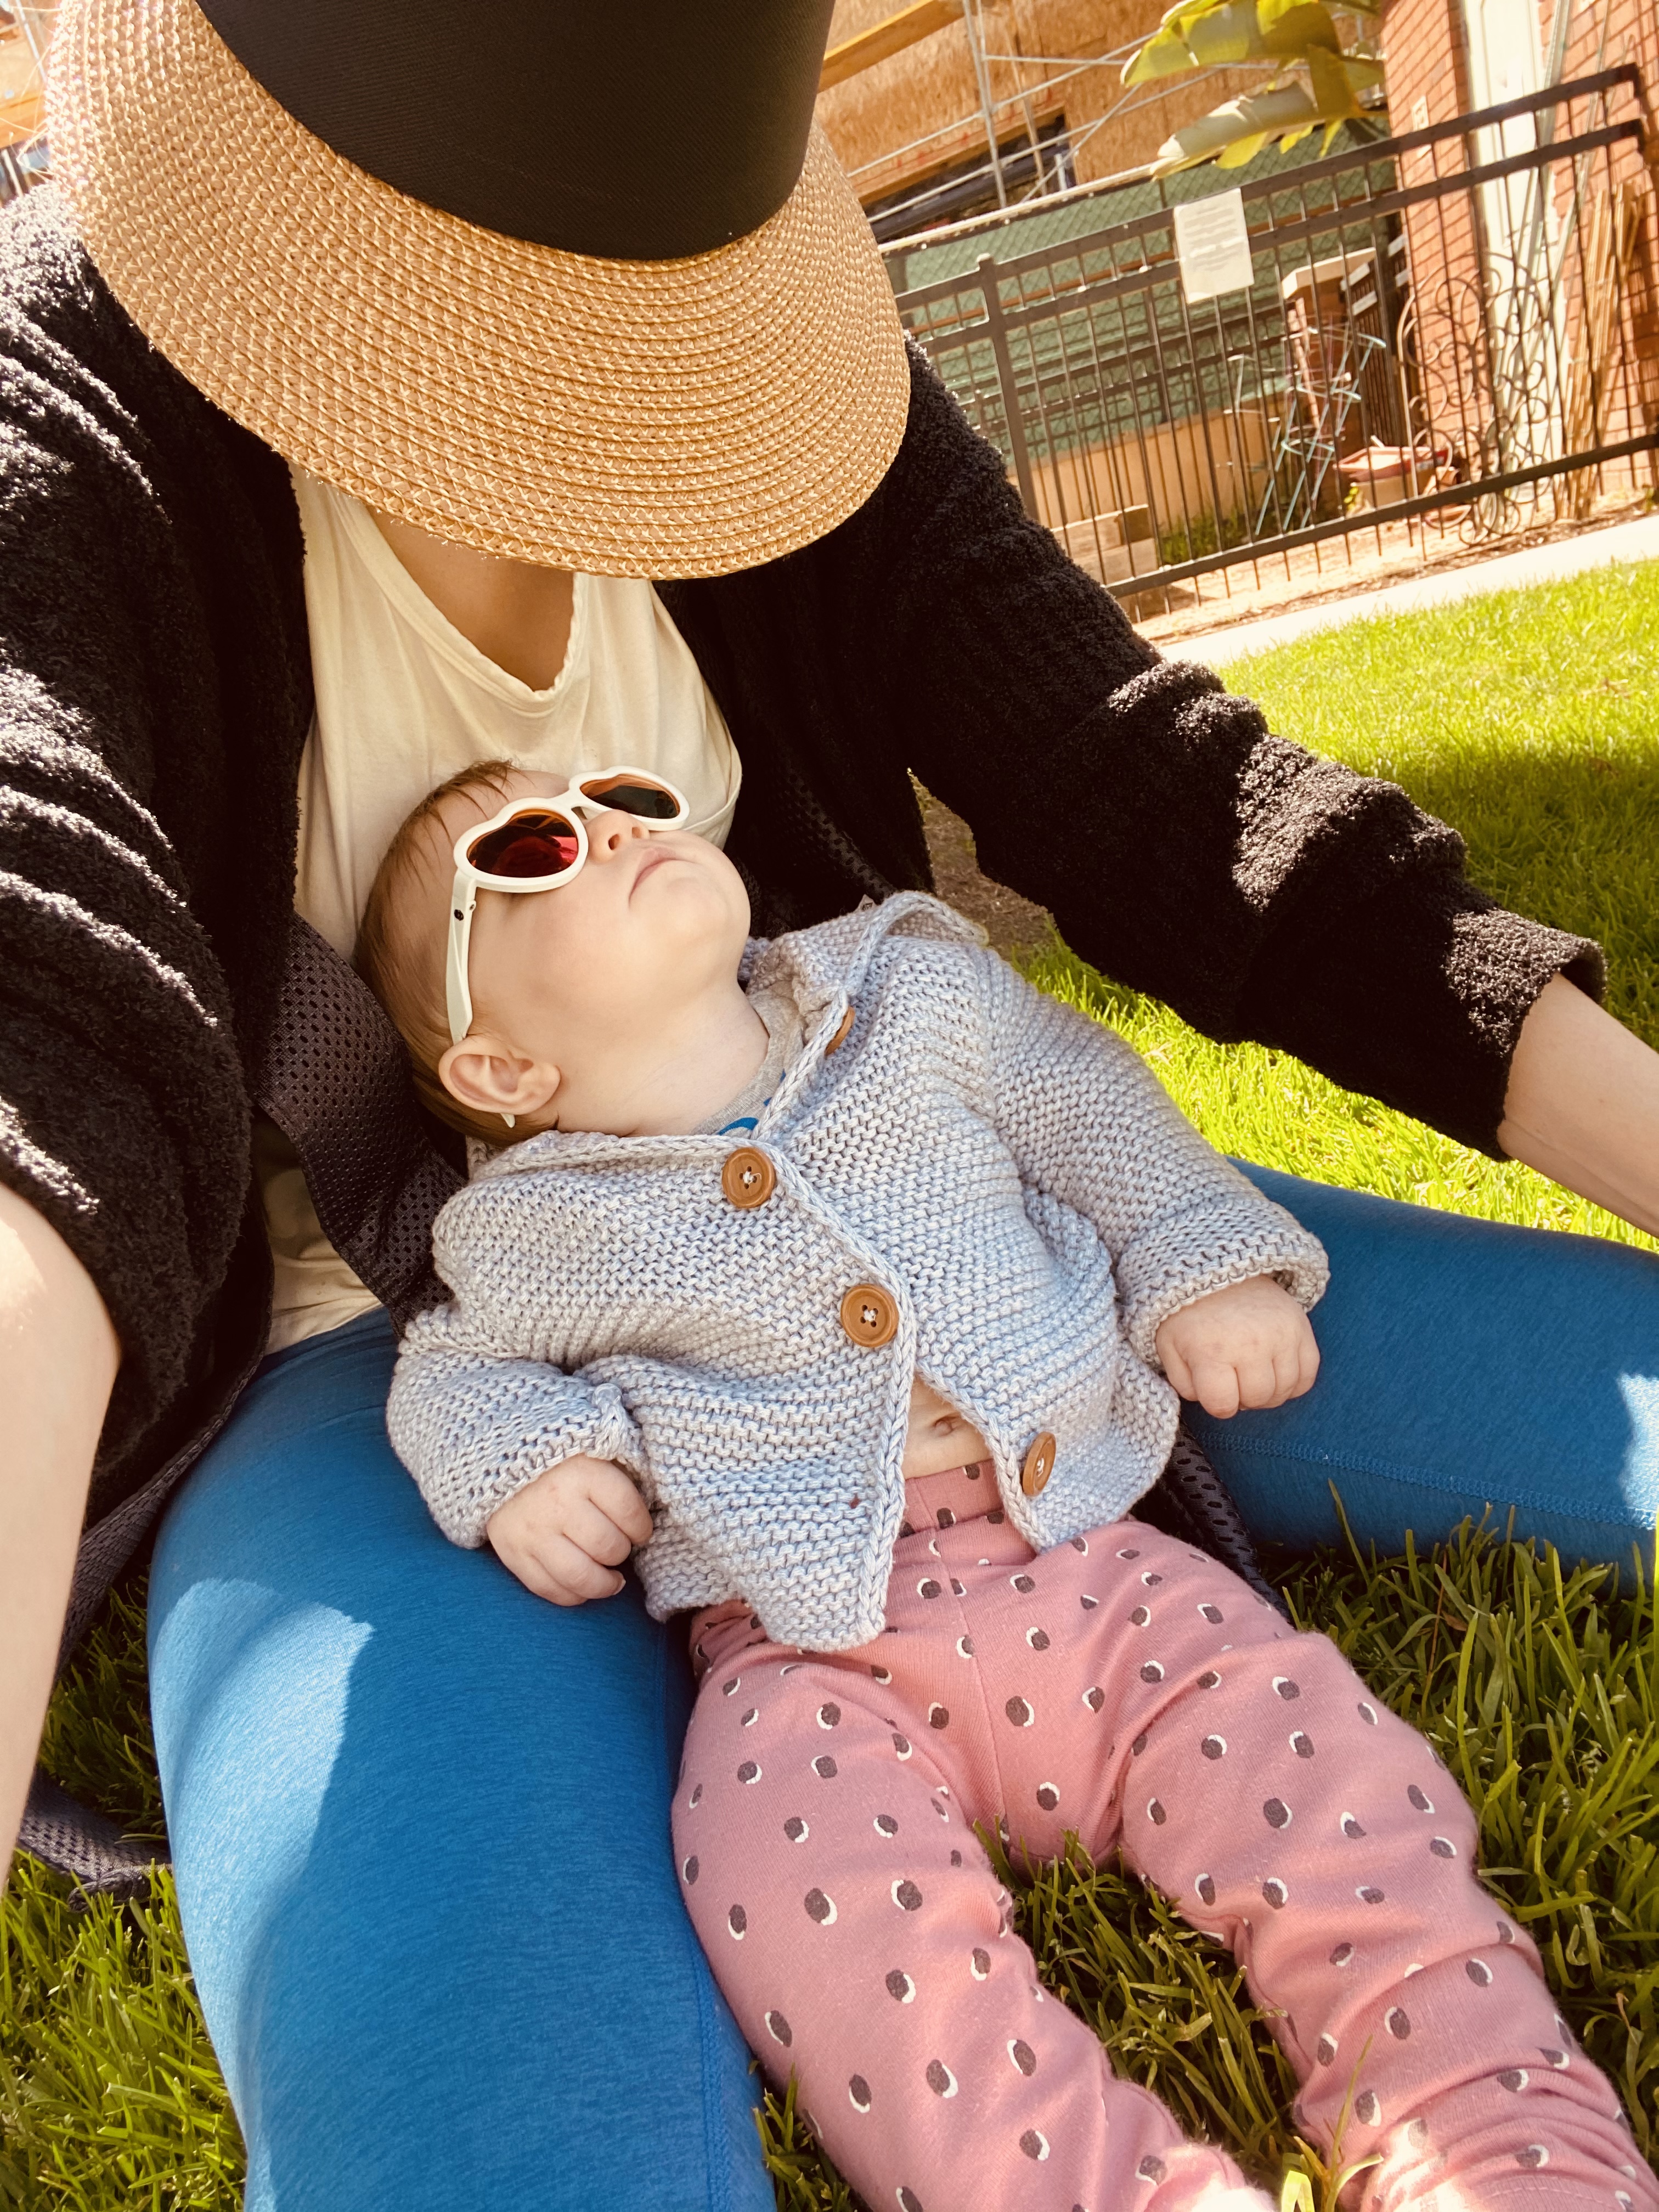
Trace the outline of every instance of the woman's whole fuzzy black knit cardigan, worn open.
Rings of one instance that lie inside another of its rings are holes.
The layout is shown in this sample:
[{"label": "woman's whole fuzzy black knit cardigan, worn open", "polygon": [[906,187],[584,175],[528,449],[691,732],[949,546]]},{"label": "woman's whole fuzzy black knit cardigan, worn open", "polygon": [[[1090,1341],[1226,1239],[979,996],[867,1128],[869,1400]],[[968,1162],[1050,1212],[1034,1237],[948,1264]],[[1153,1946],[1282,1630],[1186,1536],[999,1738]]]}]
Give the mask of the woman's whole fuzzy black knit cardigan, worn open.
[{"label": "woman's whole fuzzy black knit cardigan, worn open", "polygon": [[[265,1327],[248,1133],[294,940],[301,568],[285,465],[150,349],[51,190],[11,208],[0,1175],[119,1329],[93,1522],[139,1486],[148,1515]],[[929,883],[914,774],[1106,973],[1467,1144],[1493,1146],[1544,982],[1599,987],[1595,947],[1498,909],[1394,785],[1141,644],[920,358],[856,515],[659,591],[743,759],[728,849],[763,933]],[[341,1031],[312,1062],[345,1121],[358,1051]],[[409,1159],[356,1172],[361,1197]]]}]

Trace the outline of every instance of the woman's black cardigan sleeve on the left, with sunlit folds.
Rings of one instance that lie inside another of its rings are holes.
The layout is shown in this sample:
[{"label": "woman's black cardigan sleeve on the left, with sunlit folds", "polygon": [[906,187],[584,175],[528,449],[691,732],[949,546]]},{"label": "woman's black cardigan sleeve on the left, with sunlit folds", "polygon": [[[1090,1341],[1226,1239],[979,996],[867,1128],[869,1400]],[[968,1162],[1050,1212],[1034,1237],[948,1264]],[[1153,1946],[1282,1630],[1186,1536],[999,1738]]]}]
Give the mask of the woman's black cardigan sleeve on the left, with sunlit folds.
[{"label": "woman's black cardigan sleeve on the left, with sunlit folds", "polygon": [[[270,872],[292,880],[292,825],[283,849],[239,785],[237,748],[257,748],[226,730],[234,611],[204,604],[175,522],[186,487],[135,405],[159,394],[159,418],[195,409],[197,429],[210,411],[100,296],[51,197],[0,221],[0,1179],[117,1327],[108,1473],[210,1371],[248,1097],[246,1009],[208,922],[234,942]],[[206,489],[223,473],[212,440],[192,445]],[[246,624],[237,650],[257,668]],[[192,847],[190,825],[234,816],[239,790],[237,849]]]}]

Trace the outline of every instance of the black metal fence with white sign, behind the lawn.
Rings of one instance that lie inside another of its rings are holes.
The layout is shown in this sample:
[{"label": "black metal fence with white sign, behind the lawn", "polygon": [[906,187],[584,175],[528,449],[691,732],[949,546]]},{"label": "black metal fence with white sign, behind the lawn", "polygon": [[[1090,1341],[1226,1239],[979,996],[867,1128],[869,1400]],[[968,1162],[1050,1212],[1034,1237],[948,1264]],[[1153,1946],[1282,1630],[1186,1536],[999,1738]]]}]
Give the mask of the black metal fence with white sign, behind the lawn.
[{"label": "black metal fence with white sign, behind the lawn", "polygon": [[1011,223],[967,270],[911,250],[958,272],[898,307],[1119,597],[1358,531],[1502,535],[1659,482],[1641,137],[1610,69],[1245,184],[1250,290],[1190,303],[1157,206],[1033,250]]}]

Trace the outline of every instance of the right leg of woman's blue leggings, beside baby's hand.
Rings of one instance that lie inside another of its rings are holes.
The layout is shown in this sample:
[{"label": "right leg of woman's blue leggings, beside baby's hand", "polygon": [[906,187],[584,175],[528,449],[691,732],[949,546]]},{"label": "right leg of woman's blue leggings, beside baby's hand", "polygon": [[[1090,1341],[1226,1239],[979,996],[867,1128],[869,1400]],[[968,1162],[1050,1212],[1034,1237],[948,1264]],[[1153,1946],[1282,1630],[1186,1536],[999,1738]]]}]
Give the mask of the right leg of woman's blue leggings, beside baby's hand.
[{"label": "right leg of woman's blue leggings, beside baby's hand", "polygon": [[1659,1513],[1659,1259],[1305,1183],[1241,1161],[1325,1241],[1321,1376],[1276,1413],[1188,1422],[1274,1544],[1427,1542],[1471,1513],[1564,1559],[1635,1553]]}]

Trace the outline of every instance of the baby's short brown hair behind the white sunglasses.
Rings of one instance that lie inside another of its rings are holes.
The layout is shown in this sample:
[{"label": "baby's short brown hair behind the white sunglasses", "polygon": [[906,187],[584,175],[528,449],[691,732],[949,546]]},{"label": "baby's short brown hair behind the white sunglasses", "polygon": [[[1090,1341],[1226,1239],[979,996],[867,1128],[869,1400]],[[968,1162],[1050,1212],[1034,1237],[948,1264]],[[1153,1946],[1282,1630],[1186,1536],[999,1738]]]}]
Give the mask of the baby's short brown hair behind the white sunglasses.
[{"label": "baby's short brown hair behind the white sunglasses", "polygon": [[[434,830],[442,832],[442,821],[434,823],[434,816],[445,799],[456,792],[480,792],[504,801],[513,774],[511,761],[473,761],[427,792],[420,805],[405,816],[376,869],[352,956],[358,975],[396,1022],[409,1051],[416,1095],[427,1113],[434,1113],[449,1128],[458,1128],[465,1137],[482,1137],[484,1144],[495,1146],[511,1144],[502,1117],[462,1106],[438,1079],[438,1062],[449,1051],[449,1009],[445,1004],[449,854],[445,852],[440,867],[445,905],[409,900],[403,894],[416,883],[422,836],[431,836]],[[484,812],[493,814],[495,807],[487,805]]]}]

